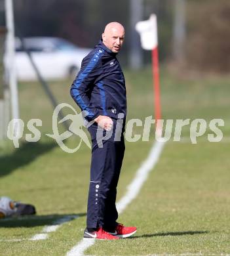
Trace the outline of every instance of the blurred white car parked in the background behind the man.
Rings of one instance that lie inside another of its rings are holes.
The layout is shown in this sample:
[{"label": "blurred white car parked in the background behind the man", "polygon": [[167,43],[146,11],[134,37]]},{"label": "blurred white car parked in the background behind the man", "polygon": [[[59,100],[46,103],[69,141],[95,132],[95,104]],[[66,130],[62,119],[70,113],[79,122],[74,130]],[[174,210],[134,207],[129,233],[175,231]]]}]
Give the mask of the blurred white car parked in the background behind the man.
[{"label": "blurred white car parked in the background behind the man", "polygon": [[[92,49],[80,48],[58,37],[26,37],[24,46],[45,80],[74,77],[81,61]],[[20,81],[35,81],[37,75],[22,43],[16,39],[16,75]]]}]

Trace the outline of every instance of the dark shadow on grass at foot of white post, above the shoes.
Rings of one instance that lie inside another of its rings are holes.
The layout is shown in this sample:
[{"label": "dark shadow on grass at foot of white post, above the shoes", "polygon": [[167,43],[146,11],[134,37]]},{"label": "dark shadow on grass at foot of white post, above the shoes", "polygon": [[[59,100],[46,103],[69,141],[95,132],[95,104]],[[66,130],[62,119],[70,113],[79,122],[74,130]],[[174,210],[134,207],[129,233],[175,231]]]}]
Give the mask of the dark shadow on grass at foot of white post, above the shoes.
[{"label": "dark shadow on grass at foot of white post, above the shoes", "polygon": [[34,161],[38,156],[49,152],[57,145],[54,142],[27,142],[22,144],[20,148],[15,149],[12,154],[0,156],[0,178],[9,175],[19,167],[28,165],[28,163]]}]

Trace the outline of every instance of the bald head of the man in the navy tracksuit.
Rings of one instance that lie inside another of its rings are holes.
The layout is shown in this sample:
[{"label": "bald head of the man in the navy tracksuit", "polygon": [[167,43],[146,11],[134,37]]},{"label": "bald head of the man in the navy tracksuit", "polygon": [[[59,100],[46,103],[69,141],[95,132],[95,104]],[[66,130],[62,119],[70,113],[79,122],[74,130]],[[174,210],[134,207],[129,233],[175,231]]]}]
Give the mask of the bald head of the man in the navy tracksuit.
[{"label": "bald head of the man in the navy tracksuit", "polygon": [[102,33],[102,41],[104,45],[113,53],[121,50],[125,39],[125,28],[118,22],[110,22],[105,26]]}]

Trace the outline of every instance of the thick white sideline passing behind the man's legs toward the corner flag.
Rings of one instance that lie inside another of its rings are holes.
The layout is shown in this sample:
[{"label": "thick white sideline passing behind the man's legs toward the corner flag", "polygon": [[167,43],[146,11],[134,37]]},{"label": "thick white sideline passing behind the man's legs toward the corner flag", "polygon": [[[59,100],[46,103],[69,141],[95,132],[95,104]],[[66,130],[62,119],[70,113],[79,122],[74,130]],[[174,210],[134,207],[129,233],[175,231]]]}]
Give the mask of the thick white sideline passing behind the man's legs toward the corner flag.
[{"label": "thick white sideline passing behind the man's legs toward the corner flag", "polygon": [[[145,180],[147,179],[147,175],[149,172],[155,167],[155,164],[159,160],[161,152],[163,150],[165,142],[156,141],[153,144],[149,156],[146,158],[144,163],[142,163],[141,167],[136,172],[136,176],[132,180],[132,182],[127,187],[127,192],[121,200],[117,203],[117,211],[122,213],[126,206],[136,198],[142,185],[144,184]],[[95,242],[95,239],[86,238],[82,239],[77,245],[71,248],[70,251],[67,252],[67,256],[82,256],[84,255],[84,251],[88,249],[88,247],[92,246]]]}]

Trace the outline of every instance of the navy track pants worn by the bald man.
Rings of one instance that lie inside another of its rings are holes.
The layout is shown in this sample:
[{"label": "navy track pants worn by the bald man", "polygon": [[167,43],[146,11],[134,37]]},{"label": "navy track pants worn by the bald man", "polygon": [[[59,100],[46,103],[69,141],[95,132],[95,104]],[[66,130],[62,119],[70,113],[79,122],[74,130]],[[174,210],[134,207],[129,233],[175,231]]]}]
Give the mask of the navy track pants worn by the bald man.
[{"label": "navy track pants worn by the bald man", "polygon": [[[117,129],[115,129],[117,127]],[[111,137],[102,140],[103,147],[98,146],[98,125],[88,127],[92,140],[92,159],[90,168],[90,185],[88,191],[88,209],[86,226],[88,228],[103,227],[105,230],[114,230],[118,217],[115,201],[117,183],[125,153],[123,125],[113,119]],[[103,135],[105,130],[101,129]],[[117,138],[117,132],[121,131]]]}]

